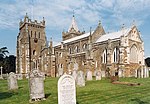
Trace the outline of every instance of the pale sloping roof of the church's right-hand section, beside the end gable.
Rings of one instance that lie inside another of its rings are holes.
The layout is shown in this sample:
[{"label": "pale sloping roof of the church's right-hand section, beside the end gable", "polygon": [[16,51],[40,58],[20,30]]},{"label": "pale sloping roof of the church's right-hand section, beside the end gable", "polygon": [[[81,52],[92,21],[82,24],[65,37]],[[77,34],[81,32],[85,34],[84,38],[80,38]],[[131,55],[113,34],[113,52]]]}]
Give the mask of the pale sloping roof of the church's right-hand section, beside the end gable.
[{"label": "pale sloping roof of the church's right-hand section, beside the end gable", "polygon": [[102,35],[97,41],[98,42],[103,42],[103,41],[107,41],[108,39],[117,39],[120,38],[121,36],[127,36],[128,33],[131,31],[131,28],[127,28],[127,29],[122,29],[118,32],[112,32],[112,33],[108,33],[108,34],[104,34]]}]

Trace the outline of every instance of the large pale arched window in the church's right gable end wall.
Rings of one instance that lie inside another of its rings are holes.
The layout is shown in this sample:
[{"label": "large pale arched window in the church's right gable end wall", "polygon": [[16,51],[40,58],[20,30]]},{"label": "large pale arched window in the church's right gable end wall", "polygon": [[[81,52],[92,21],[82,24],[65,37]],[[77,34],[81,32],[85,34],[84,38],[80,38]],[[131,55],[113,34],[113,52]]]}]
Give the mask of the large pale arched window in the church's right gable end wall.
[{"label": "large pale arched window in the church's right gable end wall", "polygon": [[130,48],[130,62],[132,62],[132,63],[138,63],[138,53],[137,53],[137,47],[136,47],[136,45],[133,45]]}]

